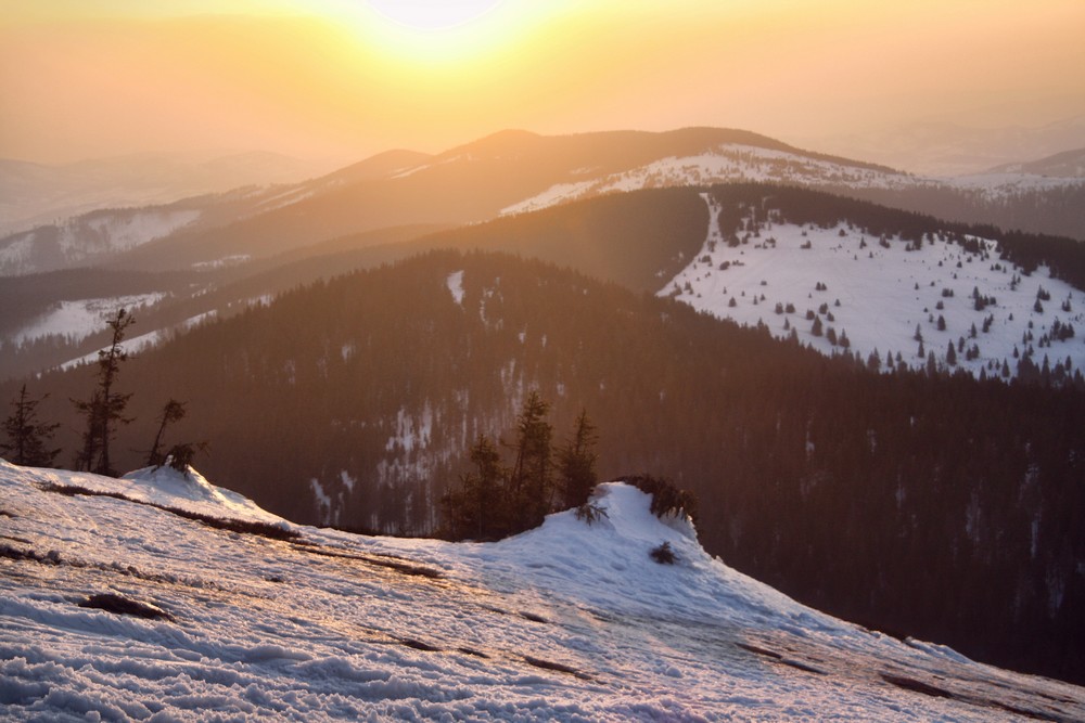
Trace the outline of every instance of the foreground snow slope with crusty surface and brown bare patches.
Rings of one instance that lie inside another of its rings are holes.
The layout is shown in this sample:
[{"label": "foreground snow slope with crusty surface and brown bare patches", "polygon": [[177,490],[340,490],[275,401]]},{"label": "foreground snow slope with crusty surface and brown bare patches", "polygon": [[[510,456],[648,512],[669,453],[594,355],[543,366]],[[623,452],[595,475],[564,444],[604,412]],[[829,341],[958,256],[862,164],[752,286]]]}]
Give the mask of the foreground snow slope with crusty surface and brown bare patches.
[{"label": "foreground snow slope with crusty surface and brown bare patches", "polygon": [[[601,488],[609,518],[593,526],[562,513],[487,544],[272,520],[299,534],[284,540],[56,486],[267,519],[194,474],[0,463],[9,719],[1085,716],[1081,688],[804,608],[711,558],[688,524],[655,519],[624,485]],[[664,541],[674,566],[649,558]]]}]

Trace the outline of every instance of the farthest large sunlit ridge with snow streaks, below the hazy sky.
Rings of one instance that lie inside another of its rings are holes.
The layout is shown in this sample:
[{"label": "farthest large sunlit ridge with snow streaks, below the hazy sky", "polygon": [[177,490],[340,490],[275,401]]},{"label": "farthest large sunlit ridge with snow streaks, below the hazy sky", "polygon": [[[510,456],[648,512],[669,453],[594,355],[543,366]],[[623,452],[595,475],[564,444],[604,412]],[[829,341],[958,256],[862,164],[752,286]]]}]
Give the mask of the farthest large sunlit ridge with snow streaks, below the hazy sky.
[{"label": "farthest large sunlit ridge with snow streaks, below the hazy sky", "polygon": [[[1034,169],[919,177],[728,129],[564,137],[503,131],[435,156],[394,151],[302,183],[95,211],[40,227],[0,238],[0,274],[106,262],[207,268],[408,223],[471,223],[605,193],[736,181],[861,195],[940,216],[963,214],[957,220],[971,222],[1085,233],[1062,208],[1085,194],[1085,180]],[[1065,193],[1072,197],[1059,195]],[[1061,206],[1033,218],[1037,203]],[[999,204],[1010,206],[1008,219],[996,217]],[[1017,209],[1021,204],[1024,211]]]}]

